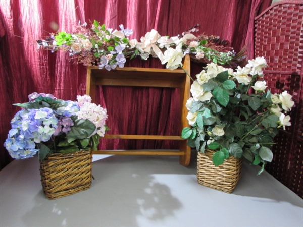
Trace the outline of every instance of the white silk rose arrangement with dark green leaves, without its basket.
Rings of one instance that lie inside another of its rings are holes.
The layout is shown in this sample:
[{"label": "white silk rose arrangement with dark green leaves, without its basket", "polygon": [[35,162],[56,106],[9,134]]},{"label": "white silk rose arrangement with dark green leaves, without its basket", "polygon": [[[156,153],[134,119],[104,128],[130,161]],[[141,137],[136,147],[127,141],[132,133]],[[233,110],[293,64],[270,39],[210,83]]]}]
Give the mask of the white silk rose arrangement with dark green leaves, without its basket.
[{"label": "white silk rose arrangement with dark green leaves, without its basket", "polygon": [[[248,60],[245,67],[226,69],[207,64],[191,85],[187,119],[191,128],[182,130],[188,145],[204,153],[216,150],[218,166],[230,155],[246,158],[255,165],[271,162],[271,147],[278,128],[290,126],[286,113],[294,105],[287,91],[272,94],[267,89],[262,68],[264,57]],[[252,88],[252,89],[251,89]]]}]

